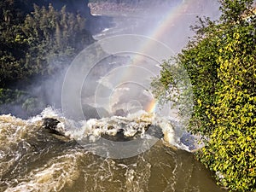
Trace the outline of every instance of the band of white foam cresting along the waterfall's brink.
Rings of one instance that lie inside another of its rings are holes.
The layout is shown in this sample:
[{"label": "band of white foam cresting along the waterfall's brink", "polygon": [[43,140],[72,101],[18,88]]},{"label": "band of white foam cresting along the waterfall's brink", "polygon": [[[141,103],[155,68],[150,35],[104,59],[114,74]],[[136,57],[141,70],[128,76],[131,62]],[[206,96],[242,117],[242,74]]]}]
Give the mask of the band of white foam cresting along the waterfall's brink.
[{"label": "band of white foam cresting along the waterfall's brink", "polygon": [[[55,118],[60,121],[56,131],[60,131],[66,137],[75,140],[82,140],[88,137],[90,142],[96,142],[102,135],[115,136],[120,130],[122,130],[125,137],[137,136],[146,138],[147,134],[145,132],[148,126],[154,125],[160,127],[166,143],[177,148],[189,150],[189,147],[180,141],[183,131],[178,130],[177,125],[175,125],[175,128],[172,125],[174,119],[160,117],[155,113],[148,113],[143,110],[139,110],[136,113],[129,113],[127,117],[112,116],[110,118],[81,120],[79,122],[66,119],[60,112],[53,108],[45,108],[40,115],[28,120],[17,119],[11,115],[2,115],[0,117],[0,120],[2,119],[12,125],[18,125],[15,126],[15,130],[12,133],[12,137],[15,138],[9,139],[9,141],[17,142],[20,134],[26,134],[26,128],[24,127],[27,125],[40,126],[43,123],[42,119]],[[175,120],[175,124],[178,124],[178,119]],[[137,135],[137,133],[139,134]]]}]

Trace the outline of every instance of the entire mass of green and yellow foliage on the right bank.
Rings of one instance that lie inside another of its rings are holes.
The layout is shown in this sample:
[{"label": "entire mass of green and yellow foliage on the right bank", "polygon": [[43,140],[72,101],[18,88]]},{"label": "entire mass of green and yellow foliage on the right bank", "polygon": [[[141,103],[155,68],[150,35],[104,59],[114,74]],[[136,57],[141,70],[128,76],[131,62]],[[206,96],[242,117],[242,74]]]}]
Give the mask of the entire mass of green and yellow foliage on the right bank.
[{"label": "entire mass of green and yellow foliage on the right bank", "polygon": [[195,37],[162,64],[154,93],[172,100],[173,72],[184,67],[194,94],[189,129],[207,138],[199,159],[230,191],[255,191],[256,15],[253,0],[219,2],[221,17],[200,18]]}]

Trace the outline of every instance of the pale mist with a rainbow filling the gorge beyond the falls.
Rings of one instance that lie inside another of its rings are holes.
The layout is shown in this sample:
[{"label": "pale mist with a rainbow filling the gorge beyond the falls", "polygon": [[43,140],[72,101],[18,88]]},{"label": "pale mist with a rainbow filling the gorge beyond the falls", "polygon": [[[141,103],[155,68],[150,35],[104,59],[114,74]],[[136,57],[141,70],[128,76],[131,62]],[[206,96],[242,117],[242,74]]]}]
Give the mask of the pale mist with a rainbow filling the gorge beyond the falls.
[{"label": "pale mist with a rainbow filling the gorge beyond the falls", "polygon": [[[52,3],[56,9],[61,9],[67,2]],[[86,25],[98,43],[89,46],[82,59],[67,58],[61,67],[57,62],[51,63],[57,68],[55,73],[46,78],[35,77],[25,88],[29,96],[22,99],[27,105],[6,104],[2,106],[3,113],[10,111],[25,118],[51,106],[63,110],[73,119],[99,119],[147,110],[154,101],[150,82],[160,73],[161,61],[176,55],[193,36],[190,26],[195,25],[196,16],[207,16],[212,20],[219,16],[218,2],[210,0],[113,1],[103,7],[102,15],[92,3],[89,3],[91,12],[88,13],[89,7],[85,3],[73,1],[68,3],[67,10],[86,16]],[[131,41],[115,40],[109,47],[104,45],[105,38],[127,34],[141,38],[135,42],[132,42],[134,38]],[[154,46],[162,46],[156,42],[166,46],[167,51],[155,49]],[[122,44],[127,44],[124,51],[120,51]],[[145,44],[150,46],[143,48]],[[81,53],[76,58],[79,56]],[[125,78],[128,72],[129,77]]]}]

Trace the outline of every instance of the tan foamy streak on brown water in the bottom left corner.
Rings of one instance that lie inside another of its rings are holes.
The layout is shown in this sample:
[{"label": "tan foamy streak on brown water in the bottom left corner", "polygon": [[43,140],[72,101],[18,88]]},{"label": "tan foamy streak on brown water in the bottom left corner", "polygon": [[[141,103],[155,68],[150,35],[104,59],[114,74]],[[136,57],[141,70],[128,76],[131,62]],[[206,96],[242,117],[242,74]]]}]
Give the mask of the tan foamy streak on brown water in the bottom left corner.
[{"label": "tan foamy streak on brown water in the bottom left corner", "polygon": [[79,177],[77,161],[81,152],[64,154],[50,160],[43,167],[33,170],[26,177],[26,181],[15,187],[9,187],[6,192],[14,191],[60,191],[65,186],[70,186]]}]

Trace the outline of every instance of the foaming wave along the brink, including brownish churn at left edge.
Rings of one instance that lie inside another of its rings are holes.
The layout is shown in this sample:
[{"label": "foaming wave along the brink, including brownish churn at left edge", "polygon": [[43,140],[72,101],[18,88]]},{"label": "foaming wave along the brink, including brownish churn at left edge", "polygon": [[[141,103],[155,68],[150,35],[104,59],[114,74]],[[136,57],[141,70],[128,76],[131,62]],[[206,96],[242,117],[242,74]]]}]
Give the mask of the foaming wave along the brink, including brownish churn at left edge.
[{"label": "foaming wave along the brink, including brownish churn at left edge", "polygon": [[[126,117],[112,116],[76,121],[65,118],[60,111],[53,108],[45,108],[38,116],[30,119],[19,119],[10,114],[1,115],[0,146],[12,146],[19,143],[20,140],[33,137],[32,132],[42,129],[46,118],[57,119],[60,123],[56,125],[56,131],[74,140],[81,140],[86,137],[90,142],[95,142],[103,136],[115,137],[121,132],[128,140],[129,137],[147,137],[151,134],[151,136],[159,137],[175,148],[191,151],[201,147],[197,144],[197,137],[192,136],[187,131],[180,130],[178,121],[160,117],[155,113],[141,110],[137,113],[128,114]],[[158,131],[157,136],[155,131]]]}]

